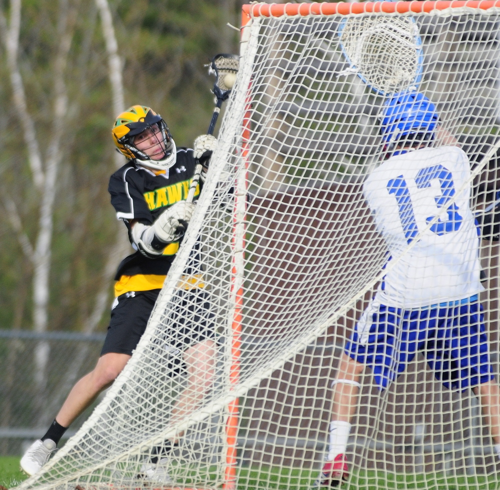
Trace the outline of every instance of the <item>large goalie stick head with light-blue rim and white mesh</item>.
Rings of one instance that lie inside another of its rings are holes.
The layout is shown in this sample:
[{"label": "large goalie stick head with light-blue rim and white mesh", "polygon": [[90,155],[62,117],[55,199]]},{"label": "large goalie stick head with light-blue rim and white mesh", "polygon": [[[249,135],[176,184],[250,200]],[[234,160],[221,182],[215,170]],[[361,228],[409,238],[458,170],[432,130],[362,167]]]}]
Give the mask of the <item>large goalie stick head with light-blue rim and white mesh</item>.
[{"label": "large goalie stick head with light-blue rim and white mesh", "polygon": [[422,77],[422,42],[411,17],[354,16],[338,36],[352,71],[379,95],[416,90]]}]

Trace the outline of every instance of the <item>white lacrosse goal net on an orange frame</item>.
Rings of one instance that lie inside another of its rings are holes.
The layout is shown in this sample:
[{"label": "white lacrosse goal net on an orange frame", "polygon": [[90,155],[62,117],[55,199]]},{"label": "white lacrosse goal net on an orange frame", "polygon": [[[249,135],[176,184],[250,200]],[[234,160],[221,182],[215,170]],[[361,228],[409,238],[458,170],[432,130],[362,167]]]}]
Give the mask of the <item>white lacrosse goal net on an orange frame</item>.
[{"label": "white lacrosse goal net on an orange frame", "polygon": [[[147,330],[86,423],[19,488],[311,487],[328,449],[331,380],[387,271],[362,186],[381,163],[378,116],[390,94],[417,90],[435,104],[445,132],[434,146],[456,138],[467,155],[480,220],[500,191],[500,4],[412,4],[430,8],[245,7],[219,146]],[[399,13],[381,12],[390,9]],[[497,243],[480,240],[495,373]],[[193,276],[199,287],[188,289]],[[186,370],[182,342],[207,331],[215,347],[201,375]],[[500,483],[477,398],[444,387],[421,353],[386,389],[370,369],[360,384],[350,488]],[[137,477],[156,453],[171,484]]]}]

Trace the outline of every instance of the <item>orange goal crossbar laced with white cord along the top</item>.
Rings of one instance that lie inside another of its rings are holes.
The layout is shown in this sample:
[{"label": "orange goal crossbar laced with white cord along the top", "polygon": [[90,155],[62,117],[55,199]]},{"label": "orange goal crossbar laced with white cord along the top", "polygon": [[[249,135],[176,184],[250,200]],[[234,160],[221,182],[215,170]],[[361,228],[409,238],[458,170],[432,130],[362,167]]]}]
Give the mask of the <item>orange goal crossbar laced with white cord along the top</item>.
[{"label": "orange goal crossbar laced with white cord along the top", "polygon": [[[413,0],[412,2],[361,2],[361,3],[312,3],[312,4],[251,4],[243,5],[243,23],[252,17],[289,17],[289,16],[332,16],[349,14],[368,14],[384,12],[386,14],[430,13],[445,9],[481,9],[500,8],[500,0]],[[246,18],[246,19],[245,19]]]}]

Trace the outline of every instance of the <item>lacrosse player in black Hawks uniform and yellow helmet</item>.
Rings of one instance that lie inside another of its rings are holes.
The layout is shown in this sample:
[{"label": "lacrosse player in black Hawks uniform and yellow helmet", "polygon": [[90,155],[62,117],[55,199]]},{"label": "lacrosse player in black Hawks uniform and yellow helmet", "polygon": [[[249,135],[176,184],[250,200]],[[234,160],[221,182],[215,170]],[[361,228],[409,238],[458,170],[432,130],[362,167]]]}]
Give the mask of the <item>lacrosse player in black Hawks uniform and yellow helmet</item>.
[{"label": "lacrosse player in black Hawks uniform and yellow helmet", "polygon": [[[177,149],[161,116],[140,105],[116,118],[112,137],[128,161],[111,176],[108,191],[136,252],[118,267],[111,320],[95,368],[74,385],[46,434],[21,459],[21,468],[29,475],[45,464],[67,427],[111,385],[132,355],[179,248],[178,228],[185,230],[191,219],[195,204],[185,198],[196,163],[203,165],[203,181],[217,144],[213,136],[202,135],[193,150]],[[194,199],[198,195],[199,189]],[[211,385],[215,363],[214,332],[202,283],[190,277],[185,284],[199,321],[188,334],[183,328],[176,333],[188,373],[186,388],[172,408],[172,416],[177,417],[192,411],[202,399]],[[170,483],[163,457],[171,444],[166,442],[161,454],[141,468],[148,481]]]}]

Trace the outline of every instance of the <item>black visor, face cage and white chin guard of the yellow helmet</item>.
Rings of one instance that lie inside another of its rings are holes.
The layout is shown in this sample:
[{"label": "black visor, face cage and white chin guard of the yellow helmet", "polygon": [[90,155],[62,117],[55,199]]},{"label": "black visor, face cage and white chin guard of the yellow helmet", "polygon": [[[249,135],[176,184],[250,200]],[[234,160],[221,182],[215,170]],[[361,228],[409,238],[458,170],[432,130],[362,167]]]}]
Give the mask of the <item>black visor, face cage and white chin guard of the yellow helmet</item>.
[{"label": "black visor, face cage and white chin guard of the yellow helmet", "polygon": [[[142,119],[142,118],[141,118]],[[157,170],[166,170],[175,164],[176,147],[175,142],[168,130],[168,126],[161,116],[148,111],[142,121],[130,122],[125,125],[130,131],[117,142],[123,146],[127,153],[139,165]],[[145,133],[146,138],[138,142],[138,136]],[[137,144],[141,147],[137,147]],[[149,149],[158,147],[151,155]]]}]

